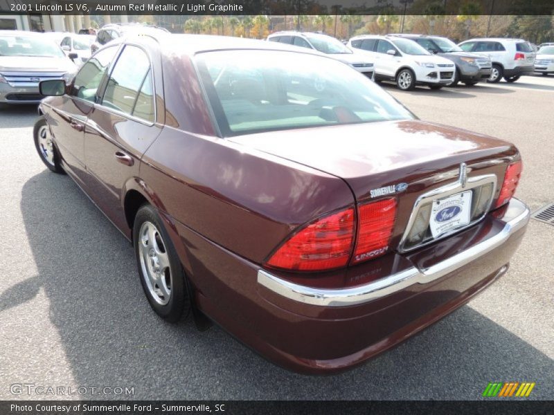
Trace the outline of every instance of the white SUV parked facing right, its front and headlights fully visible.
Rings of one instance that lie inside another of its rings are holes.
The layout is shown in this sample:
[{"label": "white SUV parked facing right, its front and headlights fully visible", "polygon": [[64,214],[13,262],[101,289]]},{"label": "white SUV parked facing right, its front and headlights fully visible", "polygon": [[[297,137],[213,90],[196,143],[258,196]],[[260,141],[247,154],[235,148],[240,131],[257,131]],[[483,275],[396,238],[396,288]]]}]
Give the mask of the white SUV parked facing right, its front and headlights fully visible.
[{"label": "white SUV parked facing right, its front and headlights fully visible", "polygon": [[348,46],[373,60],[375,81],[394,80],[403,91],[413,89],[416,84],[440,89],[454,81],[454,63],[429,53],[413,40],[361,35],[352,37]]}]

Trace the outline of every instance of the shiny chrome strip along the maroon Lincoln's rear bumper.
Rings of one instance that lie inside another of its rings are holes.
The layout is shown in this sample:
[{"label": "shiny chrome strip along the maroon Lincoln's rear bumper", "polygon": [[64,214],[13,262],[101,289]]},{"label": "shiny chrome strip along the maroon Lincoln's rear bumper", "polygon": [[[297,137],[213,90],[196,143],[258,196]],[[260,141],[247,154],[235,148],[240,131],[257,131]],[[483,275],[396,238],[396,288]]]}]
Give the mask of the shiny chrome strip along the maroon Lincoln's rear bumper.
[{"label": "shiny chrome strip along the maroon Lincoln's rear bumper", "polygon": [[258,270],[258,284],[283,295],[283,297],[314,306],[343,307],[362,304],[391,295],[413,284],[429,284],[429,282],[444,277],[465,264],[482,257],[494,248],[501,246],[514,232],[523,228],[529,221],[530,211],[524,203],[512,199],[506,216],[512,217],[512,219],[506,222],[499,233],[425,270],[419,270],[413,266],[364,286],[335,290],[294,284],[271,275],[266,270]]}]

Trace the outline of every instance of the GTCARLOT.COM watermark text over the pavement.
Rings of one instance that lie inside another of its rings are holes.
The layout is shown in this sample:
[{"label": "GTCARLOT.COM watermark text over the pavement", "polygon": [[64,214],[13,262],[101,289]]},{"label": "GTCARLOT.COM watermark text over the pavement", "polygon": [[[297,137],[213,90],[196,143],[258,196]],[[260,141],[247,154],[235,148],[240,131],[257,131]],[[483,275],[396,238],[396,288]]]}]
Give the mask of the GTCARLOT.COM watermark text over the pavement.
[{"label": "GTCARLOT.COM watermark text over the pavement", "polygon": [[75,396],[75,395],[105,395],[105,396],[133,396],[134,386],[52,386],[36,385],[35,383],[12,383],[12,395],[40,395],[40,396]]}]

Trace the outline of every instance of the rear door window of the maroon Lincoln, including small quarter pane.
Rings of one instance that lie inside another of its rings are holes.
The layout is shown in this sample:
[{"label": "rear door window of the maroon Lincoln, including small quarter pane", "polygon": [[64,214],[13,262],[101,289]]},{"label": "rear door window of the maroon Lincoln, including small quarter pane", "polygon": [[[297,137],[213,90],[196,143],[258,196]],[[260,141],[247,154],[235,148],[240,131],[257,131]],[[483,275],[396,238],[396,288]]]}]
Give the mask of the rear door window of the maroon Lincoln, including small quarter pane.
[{"label": "rear door window of the maroon Lincoln, including small quarter pane", "polygon": [[[135,111],[141,115],[150,114],[147,107],[154,107],[150,77],[150,60],[144,50],[125,46],[109,76],[102,105],[129,115],[134,115]],[[146,119],[152,121],[153,117],[149,115]]]}]

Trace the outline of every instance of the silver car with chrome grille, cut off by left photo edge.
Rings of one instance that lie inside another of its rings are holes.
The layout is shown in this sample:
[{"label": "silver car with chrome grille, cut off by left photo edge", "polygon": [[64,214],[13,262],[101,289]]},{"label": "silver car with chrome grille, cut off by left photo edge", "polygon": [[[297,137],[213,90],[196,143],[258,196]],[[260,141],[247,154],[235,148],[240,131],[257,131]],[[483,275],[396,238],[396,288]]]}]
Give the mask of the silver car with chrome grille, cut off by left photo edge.
[{"label": "silver car with chrome grille, cut off by left photo edge", "polygon": [[39,82],[65,79],[76,71],[62,48],[39,33],[0,32],[0,104],[33,104],[44,98]]}]

